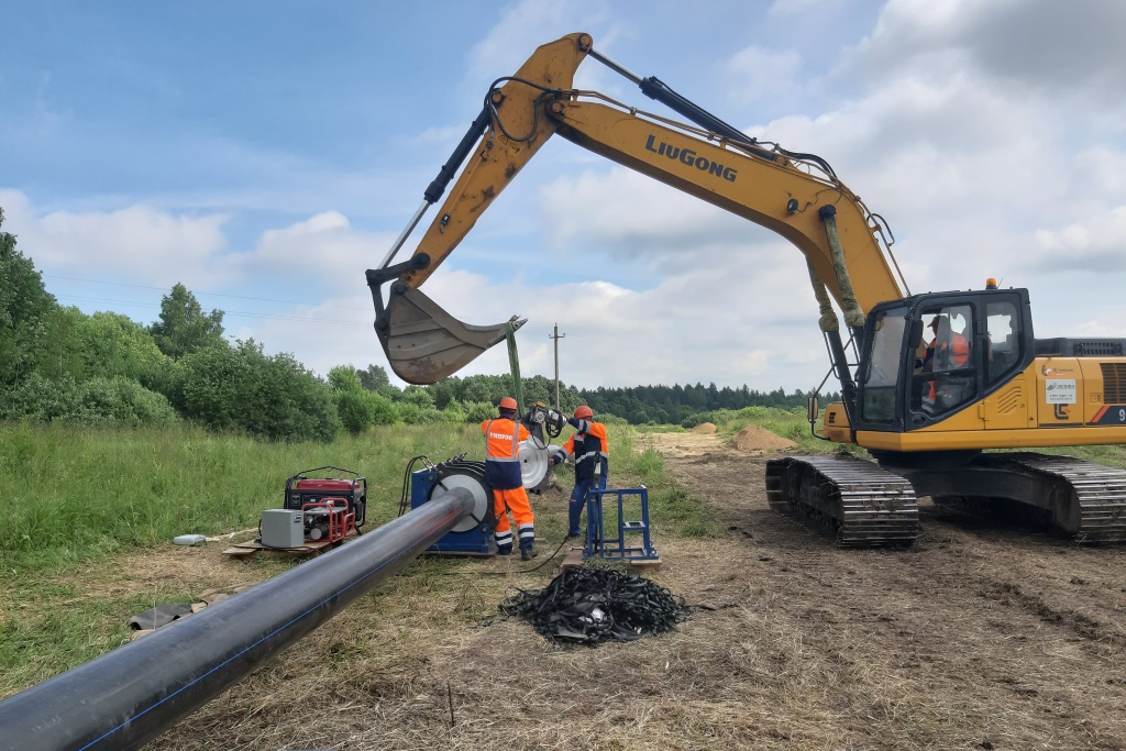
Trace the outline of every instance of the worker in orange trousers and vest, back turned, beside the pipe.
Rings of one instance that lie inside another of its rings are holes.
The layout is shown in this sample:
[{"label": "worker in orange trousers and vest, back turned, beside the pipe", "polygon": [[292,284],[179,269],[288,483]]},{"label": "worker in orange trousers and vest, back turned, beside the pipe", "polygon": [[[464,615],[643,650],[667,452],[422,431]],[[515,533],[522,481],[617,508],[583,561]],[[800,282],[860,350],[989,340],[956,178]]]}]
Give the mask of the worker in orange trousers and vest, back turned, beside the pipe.
[{"label": "worker in orange trousers and vest, back turned, beside the pipe", "polygon": [[528,493],[524,490],[519,455],[520,441],[528,440],[531,433],[516,418],[519,408],[515,399],[506,396],[498,406],[500,417],[481,423],[481,432],[485,436],[485,482],[493,491],[493,515],[497,517],[493,539],[497,555],[512,554],[512,526],[508,521],[511,513],[520,536],[520,557],[530,561],[537,555],[536,528]]}]

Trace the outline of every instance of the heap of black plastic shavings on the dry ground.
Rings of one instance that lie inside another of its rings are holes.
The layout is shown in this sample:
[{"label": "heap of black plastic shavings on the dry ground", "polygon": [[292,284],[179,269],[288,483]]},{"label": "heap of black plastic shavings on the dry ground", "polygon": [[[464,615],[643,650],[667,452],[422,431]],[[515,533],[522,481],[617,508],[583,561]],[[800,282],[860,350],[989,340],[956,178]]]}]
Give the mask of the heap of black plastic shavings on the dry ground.
[{"label": "heap of black plastic shavings on the dry ground", "polygon": [[663,587],[613,569],[565,569],[544,589],[520,590],[499,607],[554,642],[591,646],[671,631],[690,611]]}]

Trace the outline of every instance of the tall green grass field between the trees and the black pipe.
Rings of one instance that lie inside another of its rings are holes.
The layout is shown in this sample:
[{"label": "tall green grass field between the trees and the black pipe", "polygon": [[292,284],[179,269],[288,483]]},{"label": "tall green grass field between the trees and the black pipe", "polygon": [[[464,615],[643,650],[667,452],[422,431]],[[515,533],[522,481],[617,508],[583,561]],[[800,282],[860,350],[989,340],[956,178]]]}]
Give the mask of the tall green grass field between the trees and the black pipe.
[{"label": "tall green grass field between the trees and the black pipe", "polygon": [[[707,512],[664,480],[660,455],[635,452],[637,433],[610,430],[617,486],[645,484],[669,534],[713,531]],[[367,529],[399,513],[411,459],[484,456],[475,426],[399,426],[324,444],[269,444],[202,430],[77,430],[0,426],[0,696],[89,661],[128,638],[127,618],[190,602],[196,582],[169,576],[143,594],[98,585],[177,535],[253,537],[261,511],[279,508],[286,479],[334,466],[367,479]],[[417,467],[415,467],[417,468]],[[561,468],[565,506],[573,476]],[[540,546],[565,534],[564,513],[537,518]],[[249,530],[249,533],[247,531]],[[292,562],[254,558],[265,579]],[[81,573],[81,578],[78,574]],[[77,583],[81,579],[82,584]],[[95,582],[91,585],[91,580]],[[91,597],[90,589],[98,589]]]}]

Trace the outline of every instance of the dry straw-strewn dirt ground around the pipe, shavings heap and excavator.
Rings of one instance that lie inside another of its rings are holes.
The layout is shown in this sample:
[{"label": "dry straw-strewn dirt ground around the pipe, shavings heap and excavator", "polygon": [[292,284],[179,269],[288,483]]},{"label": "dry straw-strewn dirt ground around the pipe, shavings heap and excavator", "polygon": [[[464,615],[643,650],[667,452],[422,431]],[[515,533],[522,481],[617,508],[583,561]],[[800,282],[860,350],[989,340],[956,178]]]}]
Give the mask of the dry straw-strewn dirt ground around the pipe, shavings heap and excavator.
[{"label": "dry straw-strewn dirt ground around the pipe, shavings heap and excavator", "polygon": [[[650,578],[714,609],[658,637],[562,647],[486,617],[554,564],[472,562],[450,587],[445,562],[422,563],[150,748],[1126,748],[1126,549],[928,502],[911,548],[840,549],[767,508],[778,449],[652,440],[726,531],[655,530]],[[169,566],[198,569],[200,589],[256,575],[220,549],[169,551],[131,585]]]}]

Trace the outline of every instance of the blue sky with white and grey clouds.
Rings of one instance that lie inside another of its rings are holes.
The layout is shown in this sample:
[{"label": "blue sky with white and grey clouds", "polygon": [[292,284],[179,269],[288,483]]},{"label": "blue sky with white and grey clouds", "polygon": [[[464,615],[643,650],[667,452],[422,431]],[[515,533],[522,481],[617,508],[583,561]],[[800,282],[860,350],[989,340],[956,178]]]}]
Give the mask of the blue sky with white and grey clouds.
[{"label": "blue sky with white and grey clouds", "polygon": [[[490,83],[586,32],[829,161],[890,224],[911,292],[997,277],[1029,289],[1037,337],[1126,337],[1123,2],[36,0],[3,16],[2,229],[87,313],[148,325],[180,283],[232,340],[320,375],[386,367],[364,271]],[[682,119],[591,59],[575,86]],[[792,392],[829,370],[795,247],[563,138],[422,290],[467,323],[527,318],[525,376],[554,376],[557,324],[560,378],[583,388]],[[508,370],[499,346],[458,375]]]}]

